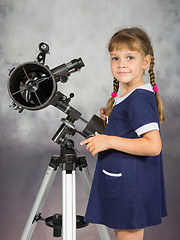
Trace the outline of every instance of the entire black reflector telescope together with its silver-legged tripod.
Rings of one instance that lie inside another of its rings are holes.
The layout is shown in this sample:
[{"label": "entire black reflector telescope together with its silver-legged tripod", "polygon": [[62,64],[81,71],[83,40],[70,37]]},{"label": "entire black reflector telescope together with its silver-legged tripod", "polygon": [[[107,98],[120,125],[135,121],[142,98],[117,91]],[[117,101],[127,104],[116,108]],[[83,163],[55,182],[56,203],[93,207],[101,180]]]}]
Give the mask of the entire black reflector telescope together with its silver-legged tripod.
[{"label": "entire black reflector telescope together with its silver-legged tripod", "polygon": [[[45,65],[46,54],[49,54],[49,45],[45,42],[40,43],[39,51],[34,61],[25,62],[10,70],[7,86],[9,95],[13,100],[10,106],[21,113],[24,109],[37,111],[53,105],[67,114],[67,117],[61,119],[62,124],[52,138],[54,142],[60,145],[60,155],[51,156],[21,240],[31,238],[39,220],[45,221],[47,226],[53,228],[54,237],[61,237],[62,234],[63,240],[75,240],[76,228],[88,225],[88,223],[84,222],[83,216],[76,215],[76,168],[79,168],[88,197],[92,177],[85,157],[77,156],[73,140],[66,138],[66,135],[74,135],[77,132],[83,137],[89,138],[94,136],[95,132],[104,132],[104,122],[96,115],[93,115],[89,122],[82,118],[81,113],[69,104],[74,94],[70,93],[69,97],[67,97],[58,91],[58,82],[66,83],[72,73],[81,70],[85,66],[82,59],[73,59],[68,63],[49,69]],[[74,125],[74,122],[79,119],[86,123],[83,131],[76,129]],[[54,214],[48,218],[43,218],[41,211],[59,167],[62,168],[63,214]],[[97,225],[97,228],[101,239],[110,240],[110,234],[105,226]]]}]

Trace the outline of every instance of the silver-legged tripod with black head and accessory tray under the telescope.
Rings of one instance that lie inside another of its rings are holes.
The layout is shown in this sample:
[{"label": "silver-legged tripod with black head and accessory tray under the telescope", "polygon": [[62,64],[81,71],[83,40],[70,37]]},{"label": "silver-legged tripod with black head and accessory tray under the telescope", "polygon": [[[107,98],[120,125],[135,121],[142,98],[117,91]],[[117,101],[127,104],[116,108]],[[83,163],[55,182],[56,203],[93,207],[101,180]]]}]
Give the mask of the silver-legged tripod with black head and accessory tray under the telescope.
[{"label": "silver-legged tripod with black head and accessory tray under the telescope", "polygon": [[[57,142],[57,136],[62,135],[67,125],[62,124],[58,130],[58,134],[54,136]],[[79,168],[80,176],[83,181],[84,189],[89,196],[92,177],[89,173],[86,158],[84,156],[77,157],[74,150],[74,142],[71,139],[61,138],[60,156],[52,156],[48,165],[43,182],[35,199],[31,213],[27,220],[26,226],[20,240],[29,240],[33,234],[38,220],[45,221],[46,225],[53,228],[53,236],[61,237],[63,240],[76,240],[76,228],[85,227],[88,223],[84,222],[82,216],[76,216],[76,168]],[[42,218],[41,211],[53,184],[56,173],[62,168],[62,207],[63,214],[54,214],[46,219]],[[100,239],[110,240],[108,229],[103,225],[97,225]]]}]

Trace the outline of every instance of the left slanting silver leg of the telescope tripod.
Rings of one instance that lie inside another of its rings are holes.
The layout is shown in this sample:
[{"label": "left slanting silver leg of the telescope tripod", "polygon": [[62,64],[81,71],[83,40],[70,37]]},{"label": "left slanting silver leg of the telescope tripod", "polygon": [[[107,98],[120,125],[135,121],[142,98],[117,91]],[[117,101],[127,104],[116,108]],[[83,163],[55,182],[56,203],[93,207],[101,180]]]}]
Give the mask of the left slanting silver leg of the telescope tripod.
[{"label": "left slanting silver leg of the telescope tripod", "polygon": [[29,218],[27,220],[26,226],[24,228],[24,231],[22,233],[20,240],[31,239],[34,228],[36,226],[37,221],[39,220],[39,215],[42,211],[42,208],[48,196],[49,190],[52,186],[53,180],[56,176],[56,173],[57,173],[57,168],[55,170],[51,166],[48,166],[43,182],[36,196],[34,205],[31,209],[31,213],[29,215]]}]

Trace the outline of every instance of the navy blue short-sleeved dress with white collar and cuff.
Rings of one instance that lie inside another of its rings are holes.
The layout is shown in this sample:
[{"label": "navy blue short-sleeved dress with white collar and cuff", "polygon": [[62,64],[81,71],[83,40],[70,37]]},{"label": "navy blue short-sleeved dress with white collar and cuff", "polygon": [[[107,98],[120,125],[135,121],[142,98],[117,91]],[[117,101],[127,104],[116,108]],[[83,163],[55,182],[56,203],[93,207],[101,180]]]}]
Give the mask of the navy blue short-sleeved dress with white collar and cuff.
[{"label": "navy blue short-sleeved dress with white collar and cuff", "polygon": [[[132,139],[155,129],[157,104],[146,84],[115,101],[104,134]],[[166,215],[162,153],[136,156],[109,149],[98,154],[85,221],[136,229],[160,224]]]}]

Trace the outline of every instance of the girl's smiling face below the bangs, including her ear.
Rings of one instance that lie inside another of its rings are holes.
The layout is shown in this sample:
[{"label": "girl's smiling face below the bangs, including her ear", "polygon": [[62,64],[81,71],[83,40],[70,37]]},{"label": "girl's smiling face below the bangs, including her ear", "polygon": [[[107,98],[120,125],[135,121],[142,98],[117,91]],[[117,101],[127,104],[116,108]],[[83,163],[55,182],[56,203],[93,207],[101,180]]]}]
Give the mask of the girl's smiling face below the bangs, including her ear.
[{"label": "girl's smiling face below the bangs, including her ear", "polygon": [[112,74],[121,84],[132,86],[143,81],[143,72],[149,67],[150,55],[144,57],[140,52],[122,48],[112,51],[110,56]]}]

